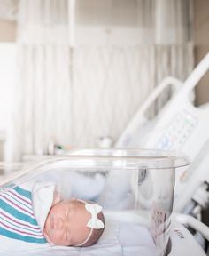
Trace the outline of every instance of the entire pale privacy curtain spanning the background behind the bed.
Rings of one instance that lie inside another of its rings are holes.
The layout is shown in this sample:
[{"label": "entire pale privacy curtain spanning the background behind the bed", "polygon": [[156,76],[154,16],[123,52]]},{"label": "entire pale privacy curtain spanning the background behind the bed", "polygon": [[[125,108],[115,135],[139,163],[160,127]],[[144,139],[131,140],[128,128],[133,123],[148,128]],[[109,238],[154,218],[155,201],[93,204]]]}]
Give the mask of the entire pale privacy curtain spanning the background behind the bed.
[{"label": "entire pale privacy curtain spanning the background behind the bed", "polygon": [[163,77],[184,80],[193,68],[191,0],[75,0],[74,31],[72,3],[19,1],[15,159],[46,152],[51,139],[117,140]]}]

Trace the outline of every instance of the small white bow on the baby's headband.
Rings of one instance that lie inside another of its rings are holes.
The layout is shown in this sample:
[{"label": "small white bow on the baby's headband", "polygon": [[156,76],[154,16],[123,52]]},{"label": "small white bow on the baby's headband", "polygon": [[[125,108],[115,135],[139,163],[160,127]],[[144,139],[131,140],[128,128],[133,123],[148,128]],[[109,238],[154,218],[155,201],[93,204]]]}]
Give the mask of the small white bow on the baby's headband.
[{"label": "small white bow on the baby's headband", "polygon": [[85,208],[87,212],[91,214],[91,218],[87,223],[87,227],[96,229],[104,228],[103,221],[97,218],[97,214],[103,210],[102,206],[98,204],[85,204]]}]

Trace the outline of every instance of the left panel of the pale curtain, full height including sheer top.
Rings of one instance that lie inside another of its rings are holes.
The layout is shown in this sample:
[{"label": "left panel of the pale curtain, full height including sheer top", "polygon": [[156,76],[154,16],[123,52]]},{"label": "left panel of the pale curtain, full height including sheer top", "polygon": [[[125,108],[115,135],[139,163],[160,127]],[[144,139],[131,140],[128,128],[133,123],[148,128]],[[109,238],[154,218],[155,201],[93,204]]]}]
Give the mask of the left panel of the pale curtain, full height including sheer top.
[{"label": "left panel of the pale curtain, full height including sheer top", "polygon": [[71,50],[67,1],[19,1],[12,157],[47,153],[71,138]]}]

